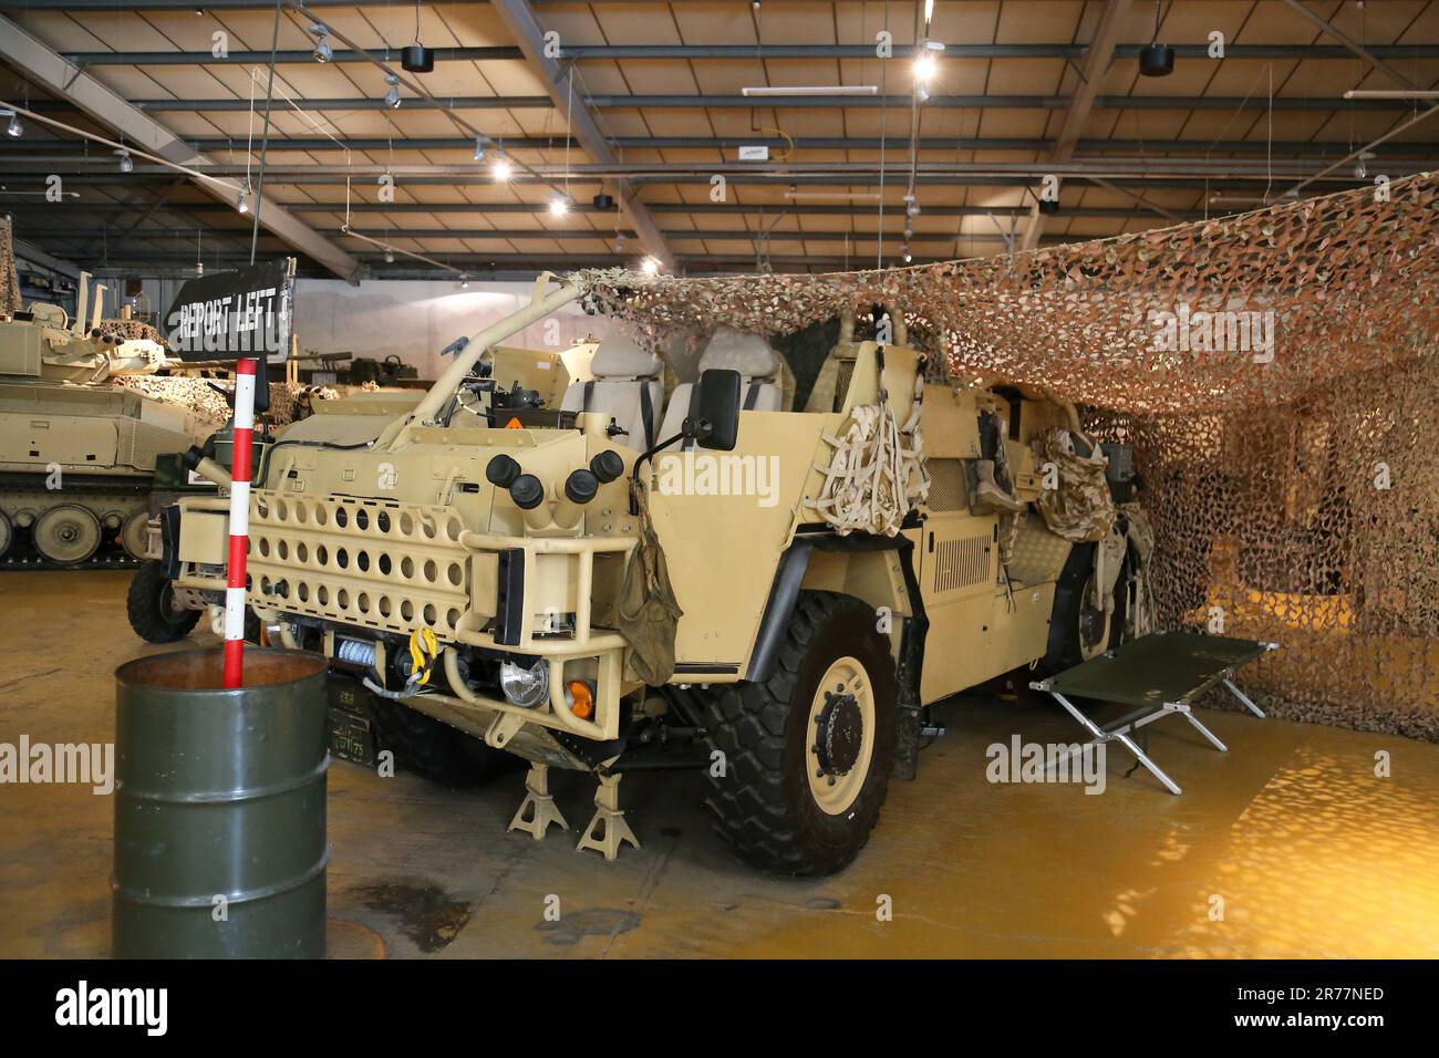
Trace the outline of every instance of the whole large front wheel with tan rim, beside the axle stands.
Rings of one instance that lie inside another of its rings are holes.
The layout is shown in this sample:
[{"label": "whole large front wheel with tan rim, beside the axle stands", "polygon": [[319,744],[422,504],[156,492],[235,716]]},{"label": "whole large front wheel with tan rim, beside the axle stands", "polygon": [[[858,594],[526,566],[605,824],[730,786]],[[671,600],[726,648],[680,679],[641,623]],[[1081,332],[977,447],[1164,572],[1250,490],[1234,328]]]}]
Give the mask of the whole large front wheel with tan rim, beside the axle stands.
[{"label": "whole large front wheel with tan rim, beside the axle stands", "polygon": [[875,612],[802,592],[776,668],[709,698],[715,831],[764,871],[833,874],[879,820],[895,750],[895,665]]}]

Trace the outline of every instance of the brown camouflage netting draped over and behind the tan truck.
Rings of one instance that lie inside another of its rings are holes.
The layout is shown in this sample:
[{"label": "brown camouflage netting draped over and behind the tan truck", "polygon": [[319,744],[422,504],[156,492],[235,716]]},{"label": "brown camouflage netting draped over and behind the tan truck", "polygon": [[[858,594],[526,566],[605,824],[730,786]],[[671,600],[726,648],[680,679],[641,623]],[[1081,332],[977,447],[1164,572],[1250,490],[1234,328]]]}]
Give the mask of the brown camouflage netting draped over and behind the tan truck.
[{"label": "brown camouflage netting draped over and behind the tan truck", "polygon": [[578,282],[655,344],[902,308],[955,384],[1134,445],[1160,628],[1279,642],[1239,681],[1276,715],[1439,740],[1439,176],[981,261]]}]

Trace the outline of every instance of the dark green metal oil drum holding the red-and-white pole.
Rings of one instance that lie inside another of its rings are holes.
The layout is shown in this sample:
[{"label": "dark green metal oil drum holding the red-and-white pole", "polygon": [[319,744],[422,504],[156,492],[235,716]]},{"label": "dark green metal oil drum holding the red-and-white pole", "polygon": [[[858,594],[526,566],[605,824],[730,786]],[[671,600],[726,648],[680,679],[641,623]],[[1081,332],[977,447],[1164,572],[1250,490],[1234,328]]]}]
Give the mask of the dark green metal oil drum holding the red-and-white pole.
[{"label": "dark green metal oil drum holding the red-and-white pole", "polygon": [[325,954],[325,661],[246,648],[115,669],[117,959]]}]

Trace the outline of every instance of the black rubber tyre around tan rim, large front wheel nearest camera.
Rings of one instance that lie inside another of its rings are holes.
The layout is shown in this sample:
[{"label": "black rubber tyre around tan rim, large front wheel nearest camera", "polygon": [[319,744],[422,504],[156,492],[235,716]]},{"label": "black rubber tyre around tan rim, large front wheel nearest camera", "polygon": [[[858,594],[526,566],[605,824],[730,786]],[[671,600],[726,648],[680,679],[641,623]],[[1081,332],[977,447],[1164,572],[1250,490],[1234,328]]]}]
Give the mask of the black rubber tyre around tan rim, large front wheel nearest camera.
[{"label": "black rubber tyre around tan rim, large front wheel nearest camera", "polygon": [[[863,665],[873,691],[873,747],[853,803],[829,815],[809,785],[810,711],[820,678],[840,658]],[[875,610],[853,596],[802,592],[764,682],[715,688],[709,746],[725,774],[709,774],[715,832],[747,864],[783,875],[845,868],[879,820],[894,766],[895,665]]]}]

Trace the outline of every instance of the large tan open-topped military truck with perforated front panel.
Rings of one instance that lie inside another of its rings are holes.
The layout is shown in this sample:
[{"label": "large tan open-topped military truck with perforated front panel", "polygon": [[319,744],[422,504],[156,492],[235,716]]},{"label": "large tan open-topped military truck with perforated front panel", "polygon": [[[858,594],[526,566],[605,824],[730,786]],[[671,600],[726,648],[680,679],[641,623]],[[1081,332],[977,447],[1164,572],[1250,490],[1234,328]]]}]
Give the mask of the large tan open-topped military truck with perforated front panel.
[{"label": "large tan open-topped military truck with perforated front panel", "polygon": [[[849,324],[807,394],[813,364],[722,328],[668,394],[612,334],[540,400],[525,379],[553,363],[486,350],[574,297],[537,291],[423,396],[318,407],[252,494],[271,639],[528,760],[512,829],[566,826],[548,769],[591,772],[578,846],[613,858],[637,844],[620,777],[695,769],[745,861],[836,871],[914,776],[930,704],[1135,623],[1138,510],[1073,409],[927,383],[888,318],[884,341]],[[224,501],[178,510],[174,584],[219,603]]]}]

